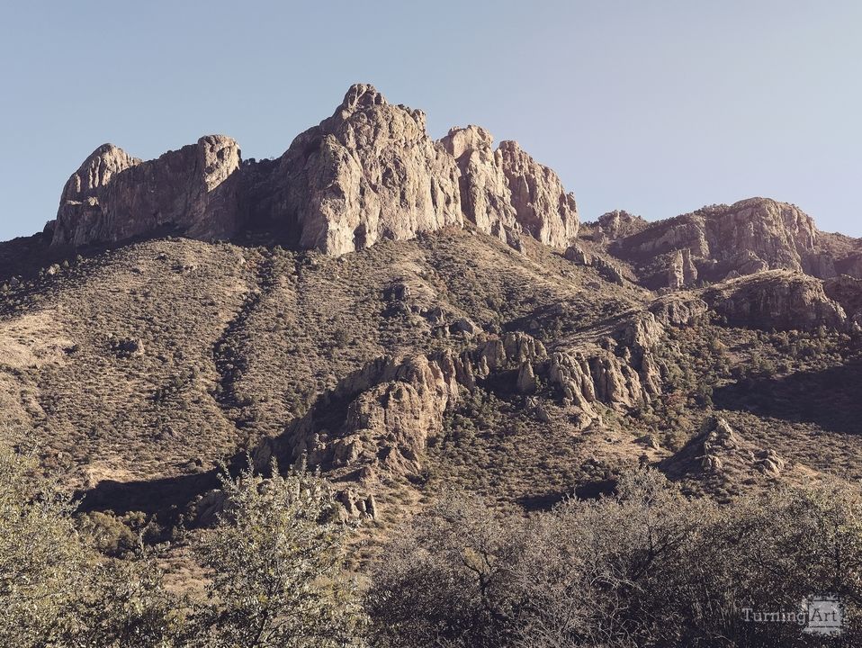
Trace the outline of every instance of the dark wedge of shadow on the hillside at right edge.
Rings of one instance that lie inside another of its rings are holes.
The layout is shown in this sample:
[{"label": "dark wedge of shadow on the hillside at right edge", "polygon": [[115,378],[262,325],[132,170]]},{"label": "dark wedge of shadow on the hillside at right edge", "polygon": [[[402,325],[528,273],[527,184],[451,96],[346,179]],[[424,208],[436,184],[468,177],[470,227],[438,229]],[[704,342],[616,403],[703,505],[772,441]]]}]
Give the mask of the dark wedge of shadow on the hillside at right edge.
[{"label": "dark wedge of shadow on the hillside at right edge", "polygon": [[715,390],[721,410],[746,411],[831,432],[862,434],[862,364],[782,378],[748,378]]}]

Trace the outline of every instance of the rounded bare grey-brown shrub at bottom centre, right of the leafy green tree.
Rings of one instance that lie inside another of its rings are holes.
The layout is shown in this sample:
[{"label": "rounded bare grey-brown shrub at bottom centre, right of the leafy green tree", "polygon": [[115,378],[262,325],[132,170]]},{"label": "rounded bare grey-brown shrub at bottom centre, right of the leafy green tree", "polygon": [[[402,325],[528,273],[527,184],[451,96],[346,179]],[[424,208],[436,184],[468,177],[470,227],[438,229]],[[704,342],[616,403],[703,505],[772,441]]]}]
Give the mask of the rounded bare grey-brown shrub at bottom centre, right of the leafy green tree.
[{"label": "rounded bare grey-brown shrub at bottom centre, right of the leafy green tree", "polygon": [[516,518],[446,497],[419,515],[374,573],[366,607],[381,646],[501,646],[515,632],[510,570]]}]

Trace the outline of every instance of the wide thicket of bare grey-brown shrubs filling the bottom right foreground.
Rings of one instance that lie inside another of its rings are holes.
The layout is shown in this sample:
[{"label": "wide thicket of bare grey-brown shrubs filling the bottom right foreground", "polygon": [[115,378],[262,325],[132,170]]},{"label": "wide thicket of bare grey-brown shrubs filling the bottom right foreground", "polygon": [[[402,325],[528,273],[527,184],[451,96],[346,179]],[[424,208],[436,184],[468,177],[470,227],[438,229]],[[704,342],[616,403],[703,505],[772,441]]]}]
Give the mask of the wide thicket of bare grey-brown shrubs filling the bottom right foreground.
[{"label": "wide thicket of bare grey-brown shrubs filling the bottom right foreground", "polygon": [[843,599],[858,642],[862,504],[855,487],[779,489],[718,506],[660,474],[527,521],[446,501],[419,516],[373,576],[382,646],[820,645],[794,623],[806,597]]}]

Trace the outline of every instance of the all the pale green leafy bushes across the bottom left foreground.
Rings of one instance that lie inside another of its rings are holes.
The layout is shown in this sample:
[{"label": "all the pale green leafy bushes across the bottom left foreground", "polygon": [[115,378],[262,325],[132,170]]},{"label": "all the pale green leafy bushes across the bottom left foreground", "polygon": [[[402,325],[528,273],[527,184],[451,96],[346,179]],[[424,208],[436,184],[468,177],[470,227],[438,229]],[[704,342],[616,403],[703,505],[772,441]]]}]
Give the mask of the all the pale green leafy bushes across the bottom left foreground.
[{"label": "all the pale green leafy bushes across the bottom left foreground", "polygon": [[[206,648],[361,645],[364,616],[341,578],[347,527],[322,480],[304,474],[223,482],[227,514],[196,545],[210,598],[166,589],[144,518],[89,514],[0,445],[0,645]],[[128,533],[127,533],[128,532]],[[102,550],[123,559],[106,557]]]}]

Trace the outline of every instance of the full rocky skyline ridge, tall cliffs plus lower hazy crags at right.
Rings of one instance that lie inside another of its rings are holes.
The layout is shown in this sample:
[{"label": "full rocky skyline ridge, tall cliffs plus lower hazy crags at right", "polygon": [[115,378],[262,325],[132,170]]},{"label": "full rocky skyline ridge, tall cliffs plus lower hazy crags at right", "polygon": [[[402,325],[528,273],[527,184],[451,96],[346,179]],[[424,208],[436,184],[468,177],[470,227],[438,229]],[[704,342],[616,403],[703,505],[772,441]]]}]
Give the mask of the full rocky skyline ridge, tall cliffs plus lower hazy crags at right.
[{"label": "full rocky skyline ridge, tall cliffs plus lower hazy crags at right", "polygon": [[423,112],[355,84],[330,117],[274,159],[243,159],[224,135],[147,161],[103,144],[69,177],[57,217],[40,235],[0,244],[0,279],[38,269],[40,258],[45,267],[78,251],[166,234],[338,256],[452,226],[516,249],[525,236],[574,246],[571,257],[592,246],[617,260],[608,272],[622,277],[629,268],[652,290],[764,269],[862,277],[862,239],[822,232],[792,203],[770,198],[653,221],[612,211],[581,224],[573,194],[515,141],[494,148],[490,133],[474,125],[431,139]]}]

